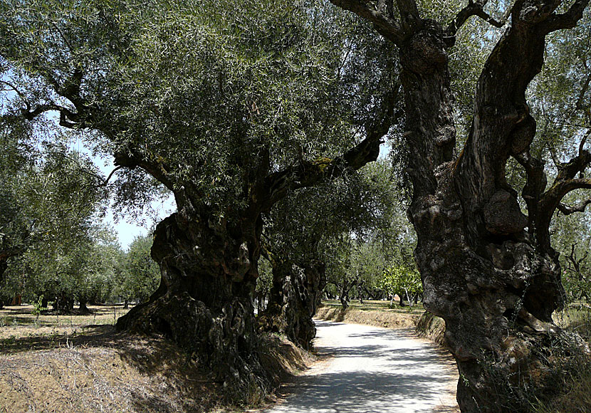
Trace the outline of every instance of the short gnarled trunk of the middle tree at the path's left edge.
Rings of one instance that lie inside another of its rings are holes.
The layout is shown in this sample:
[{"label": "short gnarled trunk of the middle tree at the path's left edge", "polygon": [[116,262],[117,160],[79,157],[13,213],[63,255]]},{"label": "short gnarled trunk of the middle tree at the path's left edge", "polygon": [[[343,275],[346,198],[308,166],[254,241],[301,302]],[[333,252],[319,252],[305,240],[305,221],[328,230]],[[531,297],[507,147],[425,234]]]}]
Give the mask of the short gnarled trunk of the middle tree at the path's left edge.
[{"label": "short gnarled trunk of the middle tree at the path's left edge", "polygon": [[272,264],[273,287],[258,328],[285,334],[292,343],[309,348],[316,335],[312,318],[326,285],[325,266],[320,261],[303,268],[285,261]]}]

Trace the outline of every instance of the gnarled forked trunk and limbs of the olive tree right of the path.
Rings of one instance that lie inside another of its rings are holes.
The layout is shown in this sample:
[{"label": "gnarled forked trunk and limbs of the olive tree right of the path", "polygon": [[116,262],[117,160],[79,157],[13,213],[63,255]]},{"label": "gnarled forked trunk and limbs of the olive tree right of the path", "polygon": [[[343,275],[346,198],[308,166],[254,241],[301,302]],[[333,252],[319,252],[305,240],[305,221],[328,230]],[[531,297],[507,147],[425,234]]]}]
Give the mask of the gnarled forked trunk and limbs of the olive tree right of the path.
[{"label": "gnarled forked trunk and limbs of the olive tree right of the path", "polygon": [[[546,34],[574,26],[587,0],[565,14],[555,13],[554,1],[512,4],[511,26],[478,81],[474,120],[458,157],[447,49],[470,16],[501,26],[483,11],[486,1],[469,2],[445,29],[422,19],[412,0],[397,2],[399,16],[391,1],[333,3],[372,21],[399,46],[415,257],[424,306],[446,321],[446,343],[461,374],[461,410],[525,411],[521,395],[550,391],[548,355],[553,344],[569,340],[551,318],[563,305],[563,287],[550,218],[568,191],[591,187],[589,179],[575,179],[591,159],[581,148],[546,190],[543,162],[529,152],[535,120],[525,89],[542,67]],[[528,216],[506,182],[509,157],[525,169]]]}]

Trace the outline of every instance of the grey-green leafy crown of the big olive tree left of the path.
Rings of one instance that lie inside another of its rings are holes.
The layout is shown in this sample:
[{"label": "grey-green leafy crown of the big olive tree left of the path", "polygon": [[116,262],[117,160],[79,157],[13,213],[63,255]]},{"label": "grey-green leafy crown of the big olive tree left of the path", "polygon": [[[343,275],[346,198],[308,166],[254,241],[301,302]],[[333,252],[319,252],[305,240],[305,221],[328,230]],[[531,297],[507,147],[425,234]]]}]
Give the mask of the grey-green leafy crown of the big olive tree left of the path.
[{"label": "grey-green leafy crown of the big olive tree left of the path", "polygon": [[[266,157],[277,171],[350,147],[392,87],[392,47],[314,1],[11,0],[0,15],[15,108],[58,108],[100,131],[82,135],[97,152],[221,216]],[[140,175],[118,175],[120,200]]]}]

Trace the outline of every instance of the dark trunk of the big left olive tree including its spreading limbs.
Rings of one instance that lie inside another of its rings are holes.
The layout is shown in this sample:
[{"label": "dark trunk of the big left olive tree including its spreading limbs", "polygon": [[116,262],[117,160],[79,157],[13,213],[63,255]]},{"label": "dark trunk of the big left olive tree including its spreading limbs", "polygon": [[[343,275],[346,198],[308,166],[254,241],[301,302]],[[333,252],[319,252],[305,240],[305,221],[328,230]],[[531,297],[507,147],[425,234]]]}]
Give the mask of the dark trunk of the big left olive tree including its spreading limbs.
[{"label": "dark trunk of the big left olive tree including its spreading limbs", "polygon": [[[376,160],[387,132],[392,104],[383,119],[357,146],[325,163],[303,162],[271,172],[268,153],[252,173],[244,209],[225,211],[228,218],[208,209],[191,182],[173,184],[159,164],[117,155],[125,167],[144,168],[174,192],[179,211],[160,222],[152,258],[162,281],[147,303],[132,308],[117,321],[120,330],[163,333],[199,357],[216,380],[224,382],[233,399],[250,402],[254,393],[271,385],[261,368],[254,327],[253,296],[261,254],[261,214],[300,187],[359,169]],[[260,394],[259,394],[260,395]]]}]

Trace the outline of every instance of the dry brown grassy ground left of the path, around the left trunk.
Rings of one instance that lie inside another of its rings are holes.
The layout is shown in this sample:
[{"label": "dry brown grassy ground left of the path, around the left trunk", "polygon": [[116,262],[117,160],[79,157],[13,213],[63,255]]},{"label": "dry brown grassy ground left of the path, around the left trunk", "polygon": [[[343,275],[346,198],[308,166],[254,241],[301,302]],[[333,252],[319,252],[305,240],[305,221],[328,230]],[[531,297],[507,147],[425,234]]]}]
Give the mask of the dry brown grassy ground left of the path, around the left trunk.
[{"label": "dry brown grassy ground left of the path, around the left trunk", "polygon": [[[0,311],[0,413],[235,412],[224,389],[192,357],[159,337],[117,333],[121,307],[92,315]],[[310,358],[277,337],[263,340],[263,362],[284,380]]]}]

